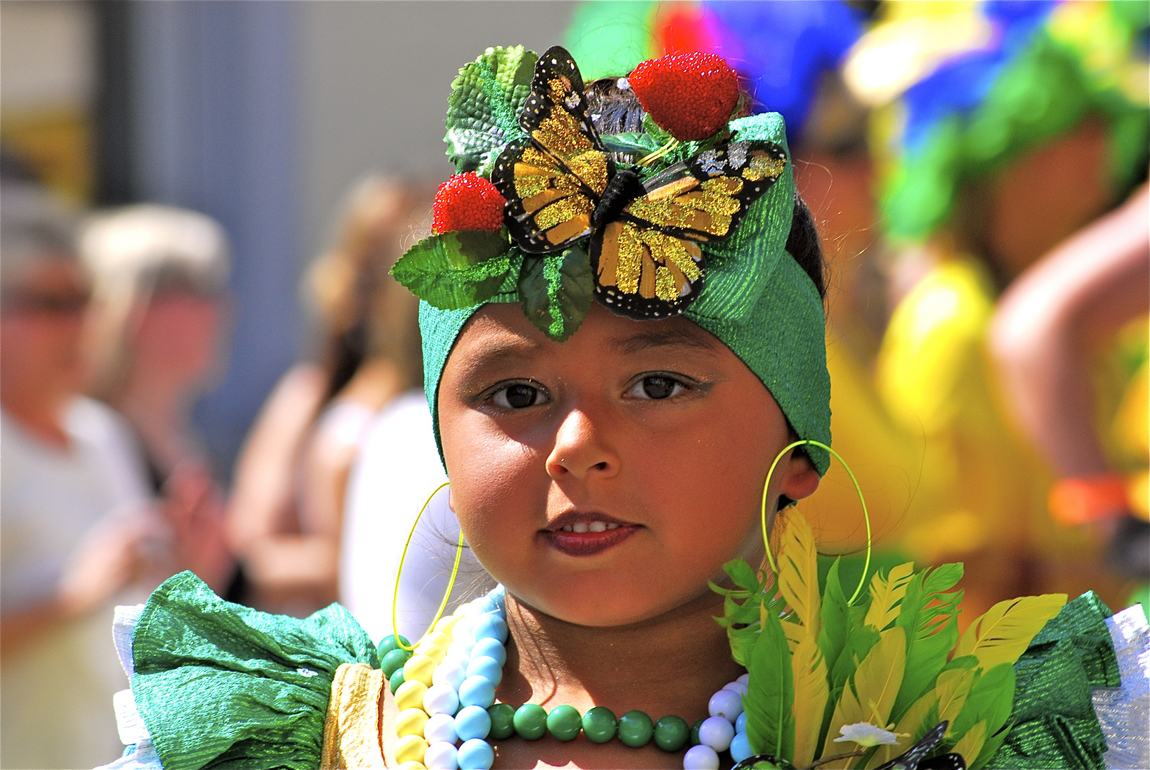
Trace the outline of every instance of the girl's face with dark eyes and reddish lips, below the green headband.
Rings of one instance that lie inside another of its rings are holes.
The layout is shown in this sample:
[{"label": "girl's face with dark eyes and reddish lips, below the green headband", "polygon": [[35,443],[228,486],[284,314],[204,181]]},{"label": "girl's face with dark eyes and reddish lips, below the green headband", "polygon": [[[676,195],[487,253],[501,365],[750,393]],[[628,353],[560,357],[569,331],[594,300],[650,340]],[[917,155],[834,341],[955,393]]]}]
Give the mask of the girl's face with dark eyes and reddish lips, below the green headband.
[{"label": "girl's face with dark eyes and reddish lips, below the green headband", "polygon": [[[598,626],[698,598],[731,559],[758,564],[762,480],[789,442],[779,405],[715,337],[598,306],[562,344],[519,305],[482,308],[444,369],[439,424],[480,562],[527,605]],[[818,484],[788,456],[768,501]]]}]

